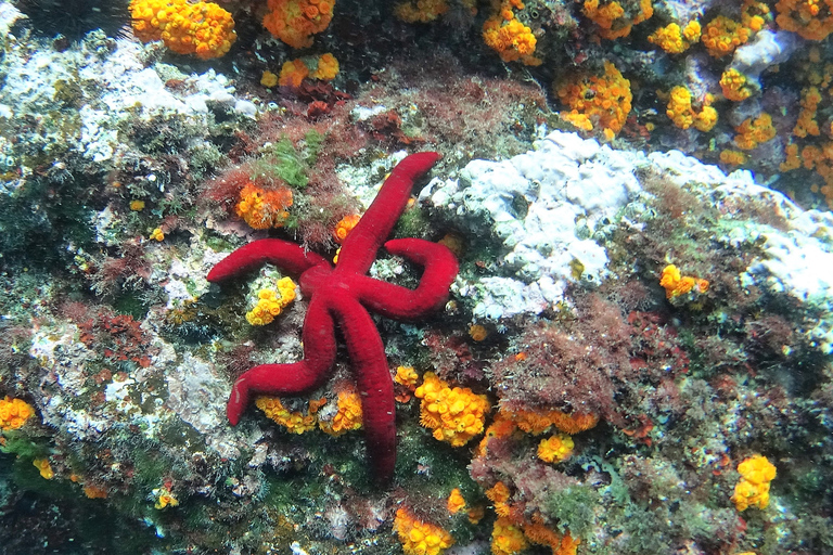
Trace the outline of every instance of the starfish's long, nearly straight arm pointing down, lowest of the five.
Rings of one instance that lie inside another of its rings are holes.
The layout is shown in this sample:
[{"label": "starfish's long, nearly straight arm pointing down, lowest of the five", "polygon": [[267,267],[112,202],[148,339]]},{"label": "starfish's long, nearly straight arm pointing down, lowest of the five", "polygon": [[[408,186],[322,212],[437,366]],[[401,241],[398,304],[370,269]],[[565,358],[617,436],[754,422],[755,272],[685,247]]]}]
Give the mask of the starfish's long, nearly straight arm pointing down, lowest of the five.
[{"label": "starfish's long, nearly straight arm pointing down, lowest of the five", "polygon": [[333,302],[333,311],[361,395],[368,454],[377,481],[386,483],[396,465],[396,408],[385,347],[370,314],[356,300],[338,298]]}]

